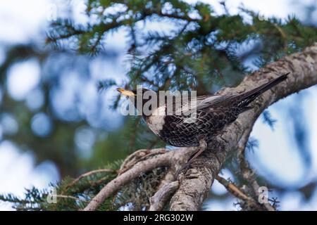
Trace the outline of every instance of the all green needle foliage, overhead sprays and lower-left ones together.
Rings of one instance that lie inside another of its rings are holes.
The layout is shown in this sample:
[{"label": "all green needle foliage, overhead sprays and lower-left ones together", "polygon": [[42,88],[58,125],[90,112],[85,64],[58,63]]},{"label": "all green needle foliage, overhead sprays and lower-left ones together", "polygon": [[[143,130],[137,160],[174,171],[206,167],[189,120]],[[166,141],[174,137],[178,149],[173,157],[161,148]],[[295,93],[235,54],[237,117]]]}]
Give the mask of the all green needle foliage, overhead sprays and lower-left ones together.
[{"label": "all green needle foliage, overhead sprays and lower-left ones together", "polygon": [[[316,41],[316,27],[303,25],[297,18],[263,20],[247,8],[231,15],[221,4],[225,13],[218,15],[210,4],[201,2],[89,0],[85,11],[89,22],[78,24],[69,18],[58,19],[51,23],[46,43],[57,49],[97,55],[106,51],[106,40],[113,33],[125,32],[129,65],[125,88],[135,89],[143,84],[154,90],[197,90],[200,95],[236,85],[251,70],[301,51]],[[168,31],[149,29],[154,23]],[[256,60],[248,63],[252,59]],[[108,79],[99,82],[98,88],[106,90],[116,85]],[[119,98],[113,106],[118,102]],[[140,137],[148,129],[137,120],[128,121],[128,127],[135,130],[128,132],[130,141],[126,148],[136,150],[139,145],[135,143],[140,138],[149,139],[149,147],[162,145],[151,134]],[[26,190],[23,199],[0,195],[0,200],[14,203],[17,210],[80,210],[116,176],[119,167],[117,162],[106,167],[113,172],[91,174],[75,183],[67,178],[52,185],[63,196],[58,197],[57,204],[47,203],[49,191],[37,188]],[[164,172],[164,168],[159,168],[142,174],[107,199],[99,210],[146,210]]]}]

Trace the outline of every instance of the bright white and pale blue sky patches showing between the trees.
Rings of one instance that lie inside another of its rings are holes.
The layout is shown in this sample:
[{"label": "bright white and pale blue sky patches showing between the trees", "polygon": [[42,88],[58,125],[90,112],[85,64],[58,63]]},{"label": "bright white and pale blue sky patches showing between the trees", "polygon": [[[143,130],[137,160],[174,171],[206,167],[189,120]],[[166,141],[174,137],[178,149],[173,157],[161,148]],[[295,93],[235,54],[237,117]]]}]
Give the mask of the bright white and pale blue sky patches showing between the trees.
[{"label": "bright white and pale blue sky patches showing between the trees", "polygon": [[[58,4],[55,4],[55,3]],[[68,2],[70,4],[68,5]],[[195,2],[195,1],[187,1]],[[210,1],[204,1],[209,3]],[[216,1],[215,1],[216,2]],[[287,18],[287,15],[297,15],[299,18],[304,18],[301,8],[296,7],[296,1],[227,1],[227,6],[230,13],[237,13],[237,8],[244,4],[246,8],[254,11],[259,11],[264,17],[275,15],[279,18]],[[303,2],[313,2],[306,0]],[[316,2],[316,1],[314,1]],[[317,4],[317,3],[316,3]],[[87,18],[82,15],[82,10],[85,8],[83,1],[49,1],[49,0],[11,0],[1,1],[0,3],[0,63],[3,60],[3,50],[1,46],[6,44],[26,43],[30,40],[38,40],[42,42],[43,30],[49,24],[49,21],[56,16],[63,16],[61,8],[72,6],[74,8],[74,16],[77,21],[85,23]],[[213,4],[217,13],[222,13],[223,8],[219,4]],[[295,7],[294,7],[295,6]],[[61,8],[58,8],[61,7]],[[34,9],[37,8],[35,11]],[[317,11],[315,12],[317,18]],[[153,29],[160,27],[156,24]],[[114,46],[116,49],[124,49],[125,35],[114,34],[115,36],[107,39],[108,45]],[[121,58],[123,64],[124,59]],[[113,65],[110,63],[95,62],[92,65],[92,70],[101,70],[102,68],[111,68]],[[111,69],[116,70],[116,69]],[[113,71],[113,74],[120,74],[117,79],[123,77],[124,70]],[[17,101],[32,99],[32,91],[39,83],[39,67],[36,61],[26,60],[23,63],[14,65],[8,72],[8,91],[11,96]],[[96,80],[100,77],[94,77]],[[65,82],[69,83],[72,77],[68,77]],[[121,81],[123,82],[123,81]],[[73,82],[75,85],[75,82]],[[94,96],[93,89],[94,82],[87,86],[87,93],[89,96]],[[70,96],[63,93],[65,96]],[[277,120],[275,129],[272,130],[261,120],[258,120],[254,126],[251,136],[259,140],[259,148],[254,153],[248,153],[247,157],[251,161],[252,167],[256,169],[259,174],[272,174],[268,179],[278,181],[282,186],[299,187],[309,180],[317,180],[317,140],[313,137],[317,136],[317,87],[314,86],[310,89],[301,91],[299,95],[304,95],[304,108],[306,110],[305,117],[309,120],[309,146],[312,155],[312,167],[306,172],[302,166],[302,161],[298,157],[299,151],[294,150],[294,143],[290,142],[287,133],[287,116],[283,107],[285,104],[297,101],[298,98],[289,96],[278,103],[272,105],[269,110],[273,118]],[[31,96],[31,97],[30,97]],[[110,97],[109,97],[110,98]],[[41,99],[38,100],[41,104]],[[71,101],[71,99],[70,99]],[[90,99],[88,98],[87,103]],[[32,101],[30,101],[32,102]],[[37,105],[35,104],[35,107]],[[113,117],[118,117],[116,112],[111,113]],[[42,120],[44,117],[40,117]],[[12,119],[12,118],[11,118]],[[56,167],[52,162],[42,162],[40,165],[35,165],[34,157],[31,151],[20,150],[13,143],[2,140],[1,133],[3,131],[15,131],[18,129],[14,120],[8,124],[1,124],[0,127],[0,193],[14,193],[15,195],[22,196],[25,188],[30,186],[37,186],[45,188],[49,182],[57,181],[60,179]],[[36,126],[36,121],[35,121]],[[114,128],[113,128],[114,129]],[[274,155],[274,157],[272,156]],[[230,176],[230,172],[223,171],[225,177]],[[225,189],[220,184],[215,183],[213,191],[216,193],[224,193]],[[317,192],[315,191],[314,197],[311,202],[302,205],[303,196],[297,192],[287,193],[286,196],[279,196],[281,200],[281,210],[317,210]],[[211,201],[208,210],[232,210],[233,200],[228,202]],[[10,205],[0,203],[0,210],[11,210]]]}]

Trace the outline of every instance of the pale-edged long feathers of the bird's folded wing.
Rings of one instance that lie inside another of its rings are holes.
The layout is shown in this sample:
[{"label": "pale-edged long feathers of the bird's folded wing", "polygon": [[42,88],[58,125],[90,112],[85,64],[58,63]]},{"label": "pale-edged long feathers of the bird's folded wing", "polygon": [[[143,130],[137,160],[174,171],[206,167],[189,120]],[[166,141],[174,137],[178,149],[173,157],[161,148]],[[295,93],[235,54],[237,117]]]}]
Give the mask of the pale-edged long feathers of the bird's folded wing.
[{"label": "pale-edged long feathers of the bird's folded wing", "polygon": [[232,98],[232,96],[198,96],[194,99],[188,99],[185,103],[182,103],[181,108],[176,109],[176,113],[189,113],[193,110],[204,110],[214,108],[216,105],[220,105],[224,101],[228,101],[228,99]]}]

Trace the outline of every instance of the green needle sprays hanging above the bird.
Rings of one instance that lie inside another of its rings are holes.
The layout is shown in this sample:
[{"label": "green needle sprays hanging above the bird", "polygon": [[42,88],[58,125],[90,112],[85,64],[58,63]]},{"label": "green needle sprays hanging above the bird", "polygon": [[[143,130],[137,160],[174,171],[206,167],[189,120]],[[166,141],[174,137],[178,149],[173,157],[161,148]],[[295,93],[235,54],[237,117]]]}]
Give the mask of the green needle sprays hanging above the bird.
[{"label": "green needle sprays hanging above the bird", "polygon": [[[211,5],[201,2],[93,0],[87,2],[86,14],[90,22],[85,25],[71,20],[52,23],[47,43],[97,54],[106,46],[106,37],[126,32],[129,88],[144,84],[208,94],[213,85],[240,82],[250,70],[244,65],[250,55],[258,56],[256,66],[261,67],[316,41],[316,27],[304,26],[294,17],[263,20],[246,8],[240,8],[238,15],[217,15]],[[151,23],[172,28],[153,32],[146,27]],[[243,46],[251,48],[243,51]]]}]

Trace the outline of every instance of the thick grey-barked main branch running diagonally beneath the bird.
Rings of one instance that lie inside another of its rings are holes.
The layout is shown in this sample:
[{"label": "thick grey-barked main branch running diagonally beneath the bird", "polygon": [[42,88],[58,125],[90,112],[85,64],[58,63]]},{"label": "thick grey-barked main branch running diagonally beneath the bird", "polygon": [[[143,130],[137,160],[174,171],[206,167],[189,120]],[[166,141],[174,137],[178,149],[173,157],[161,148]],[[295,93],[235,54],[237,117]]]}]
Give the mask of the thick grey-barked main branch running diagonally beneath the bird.
[{"label": "thick grey-barked main branch running diagonally beneath the bird", "polygon": [[226,155],[237,148],[244,131],[253,127],[263,110],[280,98],[317,84],[317,43],[301,53],[294,53],[268,64],[247,76],[239,86],[223,89],[218,94],[248,91],[287,72],[290,72],[290,75],[286,82],[259,96],[252,103],[252,110],[242,113],[235,122],[216,136],[213,143],[209,143],[208,150],[192,162],[192,168],[187,171],[185,178],[180,180],[180,187],[170,200],[170,210],[199,210],[225,162]]}]

